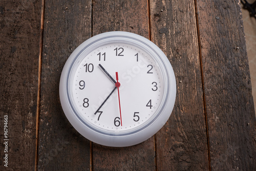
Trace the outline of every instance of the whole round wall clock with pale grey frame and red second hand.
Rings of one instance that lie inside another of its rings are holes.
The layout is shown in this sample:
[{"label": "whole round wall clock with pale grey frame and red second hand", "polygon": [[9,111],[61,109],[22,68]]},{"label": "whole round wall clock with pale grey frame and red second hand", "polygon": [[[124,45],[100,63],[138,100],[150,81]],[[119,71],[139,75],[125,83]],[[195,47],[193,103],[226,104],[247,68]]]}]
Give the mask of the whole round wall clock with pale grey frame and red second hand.
[{"label": "whole round wall clock with pale grey frame and red second hand", "polygon": [[106,146],[131,146],[166,123],[176,81],[165,54],[144,37],[98,34],[78,46],[60,77],[59,96],[73,127]]}]

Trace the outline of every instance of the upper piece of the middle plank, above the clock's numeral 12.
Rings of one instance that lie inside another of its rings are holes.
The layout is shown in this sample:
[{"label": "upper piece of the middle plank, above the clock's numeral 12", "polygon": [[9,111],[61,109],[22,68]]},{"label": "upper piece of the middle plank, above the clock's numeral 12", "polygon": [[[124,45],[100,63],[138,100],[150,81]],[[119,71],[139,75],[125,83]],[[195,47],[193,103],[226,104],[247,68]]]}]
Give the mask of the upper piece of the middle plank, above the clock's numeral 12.
[{"label": "upper piece of the middle plank, above the clock's numeral 12", "polygon": [[107,31],[128,31],[149,39],[147,13],[146,0],[95,0],[93,2],[93,35]]}]

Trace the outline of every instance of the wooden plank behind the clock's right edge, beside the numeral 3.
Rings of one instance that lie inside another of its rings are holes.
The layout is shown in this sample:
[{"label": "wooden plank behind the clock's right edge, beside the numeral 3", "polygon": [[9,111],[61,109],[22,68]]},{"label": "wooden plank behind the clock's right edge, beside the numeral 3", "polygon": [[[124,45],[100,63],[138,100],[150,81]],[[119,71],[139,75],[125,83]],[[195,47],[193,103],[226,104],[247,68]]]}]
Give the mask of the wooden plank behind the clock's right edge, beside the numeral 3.
[{"label": "wooden plank behind the clock's right edge, beside the numeral 3", "polygon": [[207,170],[207,136],[194,1],[151,1],[152,41],[176,76],[172,115],[156,134],[158,170]]}]

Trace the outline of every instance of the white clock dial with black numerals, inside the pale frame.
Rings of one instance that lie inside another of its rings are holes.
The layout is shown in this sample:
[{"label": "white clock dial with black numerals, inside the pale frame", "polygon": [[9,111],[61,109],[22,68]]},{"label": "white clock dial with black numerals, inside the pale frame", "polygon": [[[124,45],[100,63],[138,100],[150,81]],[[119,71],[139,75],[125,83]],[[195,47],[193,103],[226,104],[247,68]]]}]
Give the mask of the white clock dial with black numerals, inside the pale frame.
[{"label": "white clock dial with black numerals, inside the pale frame", "polygon": [[159,64],[150,54],[131,44],[111,43],[81,53],[80,58],[71,93],[85,122],[120,132],[141,127],[156,115],[164,85]]}]

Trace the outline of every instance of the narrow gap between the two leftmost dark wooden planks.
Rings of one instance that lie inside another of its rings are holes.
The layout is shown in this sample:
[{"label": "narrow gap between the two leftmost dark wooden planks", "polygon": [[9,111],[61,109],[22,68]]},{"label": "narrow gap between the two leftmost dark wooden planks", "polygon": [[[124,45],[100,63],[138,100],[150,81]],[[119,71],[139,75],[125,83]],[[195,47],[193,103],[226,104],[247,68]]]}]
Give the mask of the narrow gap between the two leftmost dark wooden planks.
[{"label": "narrow gap between the two leftmost dark wooden planks", "polygon": [[41,27],[39,38],[39,56],[38,56],[38,89],[37,89],[37,108],[36,108],[36,135],[35,135],[35,171],[38,165],[38,142],[39,142],[39,115],[40,115],[40,91],[41,91],[41,67],[42,67],[42,44],[44,39],[45,22],[45,0],[41,1]]}]

